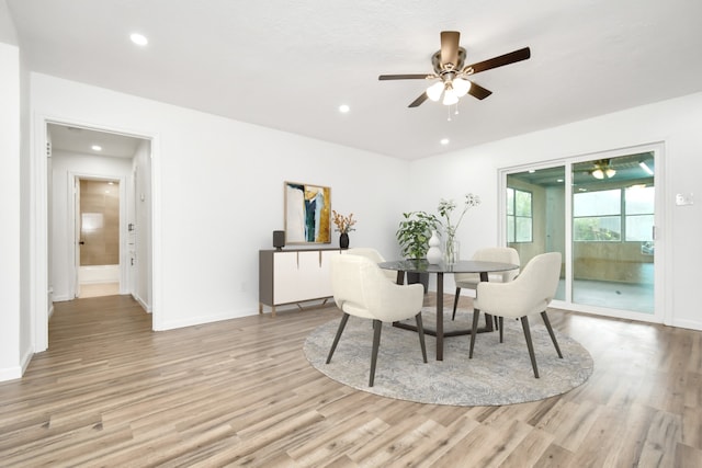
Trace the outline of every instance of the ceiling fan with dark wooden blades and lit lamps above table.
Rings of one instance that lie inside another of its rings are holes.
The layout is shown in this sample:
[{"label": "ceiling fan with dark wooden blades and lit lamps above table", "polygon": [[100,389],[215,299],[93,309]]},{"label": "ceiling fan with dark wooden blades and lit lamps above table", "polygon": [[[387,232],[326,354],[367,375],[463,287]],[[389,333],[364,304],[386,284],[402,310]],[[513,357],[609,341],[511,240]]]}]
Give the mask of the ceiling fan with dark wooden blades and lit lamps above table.
[{"label": "ceiling fan with dark wooden blades and lit lamps above table", "polygon": [[409,104],[409,107],[421,105],[427,99],[439,101],[442,95],[444,105],[452,105],[458,102],[458,98],[471,94],[474,98],[484,100],[492,94],[478,83],[471,81],[469,77],[480,71],[526,60],[531,57],[529,47],[511,52],[509,54],[492,57],[488,60],[464,66],[466,53],[458,46],[461,33],[457,31],[441,32],[441,50],[431,57],[434,72],[430,75],[381,75],[378,80],[440,80],[427,88],[419,98]]}]

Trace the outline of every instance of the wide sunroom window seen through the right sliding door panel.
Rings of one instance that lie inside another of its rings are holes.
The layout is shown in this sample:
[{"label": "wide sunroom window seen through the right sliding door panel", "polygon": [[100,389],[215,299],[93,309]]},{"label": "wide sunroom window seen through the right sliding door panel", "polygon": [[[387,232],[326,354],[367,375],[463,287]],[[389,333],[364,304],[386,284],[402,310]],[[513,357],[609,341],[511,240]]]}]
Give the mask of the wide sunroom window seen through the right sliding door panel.
[{"label": "wide sunroom window seen through the right sliding door panel", "polygon": [[654,187],[576,193],[573,195],[575,241],[650,241]]}]

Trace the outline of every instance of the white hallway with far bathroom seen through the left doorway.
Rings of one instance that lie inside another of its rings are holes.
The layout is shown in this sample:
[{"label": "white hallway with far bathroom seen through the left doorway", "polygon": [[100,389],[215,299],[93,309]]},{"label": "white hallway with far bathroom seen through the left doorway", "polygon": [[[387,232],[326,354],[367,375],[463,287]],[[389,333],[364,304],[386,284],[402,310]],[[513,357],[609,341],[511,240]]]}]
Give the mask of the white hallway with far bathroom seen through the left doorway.
[{"label": "white hallway with far bathroom seen through the left doorway", "polygon": [[47,139],[49,304],[120,294],[150,312],[151,141],[58,123]]}]

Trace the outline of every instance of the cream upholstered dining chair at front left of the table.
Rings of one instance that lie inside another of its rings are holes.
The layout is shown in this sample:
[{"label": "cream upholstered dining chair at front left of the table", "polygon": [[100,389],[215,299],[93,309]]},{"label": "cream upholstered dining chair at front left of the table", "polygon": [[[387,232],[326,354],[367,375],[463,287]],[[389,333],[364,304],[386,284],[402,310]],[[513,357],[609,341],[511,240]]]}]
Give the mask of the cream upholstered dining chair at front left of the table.
[{"label": "cream upholstered dining chair at front left of the table", "polygon": [[[381,345],[383,322],[395,322],[415,317],[419,334],[421,354],[427,362],[424,329],[421,321],[421,306],[424,288],[420,284],[398,285],[389,281],[377,264],[361,255],[338,255],[331,260],[331,290],[337,307],[343,316],[337,335],[329,350],[327,364],[331,362],[349,316],[373,320],[373,351],[371,353],[371,377],[369,387],[375,379],[375,364]],[[409,336],[409,334],[408,334]]]}]

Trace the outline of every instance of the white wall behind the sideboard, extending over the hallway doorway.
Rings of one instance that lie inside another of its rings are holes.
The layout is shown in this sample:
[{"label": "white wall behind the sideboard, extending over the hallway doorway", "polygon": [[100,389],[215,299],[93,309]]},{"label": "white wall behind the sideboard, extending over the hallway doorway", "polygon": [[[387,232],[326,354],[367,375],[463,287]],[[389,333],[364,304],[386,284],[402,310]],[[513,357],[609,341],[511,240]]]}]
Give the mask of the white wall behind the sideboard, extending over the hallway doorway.
[{"label": "white wall behind the sideboard, extending over the hallway doorway", "polygon": [[258,313],[258,250],[283,228],[284,181],[331,186],[333,209],[359,219],[351,244],[398,254],[405,161],[41,73],[32,110],[35,127],[50,118],[152,137],[157,330]]}]

